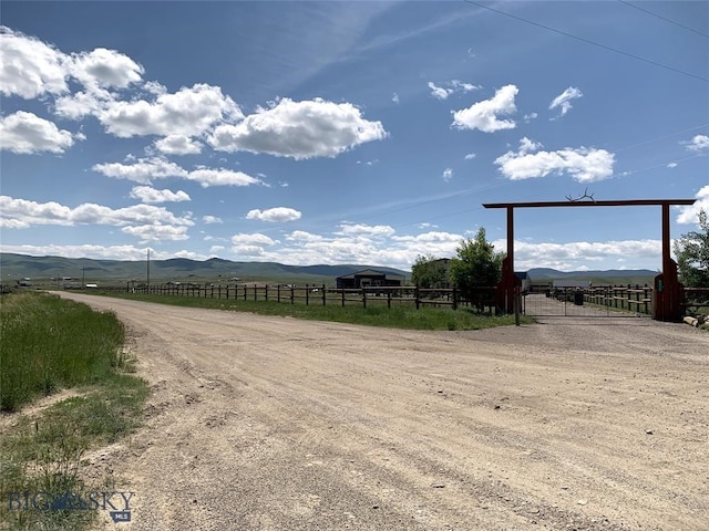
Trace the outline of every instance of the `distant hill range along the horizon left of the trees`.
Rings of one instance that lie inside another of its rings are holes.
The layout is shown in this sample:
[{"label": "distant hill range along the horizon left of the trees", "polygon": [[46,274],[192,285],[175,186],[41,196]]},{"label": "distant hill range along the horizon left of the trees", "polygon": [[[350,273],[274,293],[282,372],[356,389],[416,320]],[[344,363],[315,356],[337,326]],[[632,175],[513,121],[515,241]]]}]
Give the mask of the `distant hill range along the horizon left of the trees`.
[{"label": "distant hill range along the horizon left of the trees", "polygon": [[[220,258],[210,258],[205,261],[171,258],[150,262],[152,281],[198,279],[226,282],[236,277],[243,281],[333,283],[337,277],[363,269],[403,274],[407,278],[411,275],[409,271],[369,264],[286,266],[276,262],[234,262]],[[147,262],[146,260],[31,257],[2,252],[0,253],[0,272],[6,283],[13,283],[24,277],[29,277],[32,281],[71,277],[74,280],[84,278],[86,282],[124,282],[131,279],[144,280],[147,275]]]}]

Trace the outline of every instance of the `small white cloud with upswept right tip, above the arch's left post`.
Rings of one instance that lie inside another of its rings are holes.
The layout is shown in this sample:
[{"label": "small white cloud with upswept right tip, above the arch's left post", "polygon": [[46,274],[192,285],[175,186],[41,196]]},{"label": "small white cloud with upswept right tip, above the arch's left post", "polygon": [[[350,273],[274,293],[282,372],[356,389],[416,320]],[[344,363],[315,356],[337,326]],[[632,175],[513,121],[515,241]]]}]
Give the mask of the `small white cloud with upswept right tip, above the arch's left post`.
[{"label": "small white cloud with upswept right tip, above the arch's left post", "polygon": [[517,111],[514,98],[520,90],[515,85],[505,85],[495,92],[490,100],[474,103],[467,108],[453,112],[453,127],[459,129],[477,129],[494,133],[501,129],[513,129],[516,124],[512,119],[500,119]]}]

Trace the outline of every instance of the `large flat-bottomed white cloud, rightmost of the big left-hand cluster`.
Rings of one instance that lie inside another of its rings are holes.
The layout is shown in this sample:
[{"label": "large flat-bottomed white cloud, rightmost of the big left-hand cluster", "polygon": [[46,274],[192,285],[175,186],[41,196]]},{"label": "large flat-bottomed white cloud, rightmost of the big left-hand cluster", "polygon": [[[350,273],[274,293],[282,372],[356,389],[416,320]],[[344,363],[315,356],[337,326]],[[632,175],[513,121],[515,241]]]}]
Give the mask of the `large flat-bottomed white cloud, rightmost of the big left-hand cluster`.
[{"label": "large flat-bottomed white cloud, rightmost of the big left-hand cluster", "polygon": [[267,153],[300,160],[335,157],[387,135],[381,122],[364,119],[351,103],[321,98],[294,102],[286,97],[236,125],[218,125],[209,144],[217,150]]}]

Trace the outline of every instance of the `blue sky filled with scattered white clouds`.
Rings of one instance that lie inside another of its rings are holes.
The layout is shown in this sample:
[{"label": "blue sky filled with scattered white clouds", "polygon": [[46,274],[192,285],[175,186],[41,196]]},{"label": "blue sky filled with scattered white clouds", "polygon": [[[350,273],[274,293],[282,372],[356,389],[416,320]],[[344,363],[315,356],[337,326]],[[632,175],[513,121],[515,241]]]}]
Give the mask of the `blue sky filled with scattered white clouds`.
[{"label": "blue sky filled with scattered white clouds", "polygon": [[[13,2],[1,249],[410,269],[483,202],[709,210],[709,2]],[[515,212],[515,269],[658,269],[660,209]]]}]

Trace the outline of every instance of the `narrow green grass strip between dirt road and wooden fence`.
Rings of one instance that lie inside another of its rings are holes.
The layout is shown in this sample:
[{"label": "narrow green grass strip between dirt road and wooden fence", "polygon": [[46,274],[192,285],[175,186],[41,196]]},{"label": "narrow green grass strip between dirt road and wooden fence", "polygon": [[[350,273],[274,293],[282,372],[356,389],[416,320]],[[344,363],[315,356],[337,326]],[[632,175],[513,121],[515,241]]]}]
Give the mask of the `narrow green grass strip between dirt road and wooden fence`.
[{"label": "narrow green grass strip between dirt road and wooden fence", "polygon": [[[389,309],[387,308],[386,299],[368,299],[367,308],[362,308],[361,303],[358,304],[351,301],[345,306],[341,306],[337,299],[328,300],[327,305],[322,305],[321,295],[317,294],[314,294],[309,305],[306,305],[304,301],[297,301],[295,304],[290,304],[289,302],[275,301],[146,295],[121,292],[102,294],[185,308],[206,308],[234,312],[249,312],[259,315],[280,315],[411,330],[479,330],[514,324],[514,315],[490,315],[477,313],[467,308],[452,310],[451,308],[422,305],[420,310],[417,310],[412,302],[392,302],[392,306]],[[273,294],[273,296],[275,296],[275,294]],[[524,315],[521,315],[520,319],[521,322],[525,324],[533,322],[531,317]]]}]

